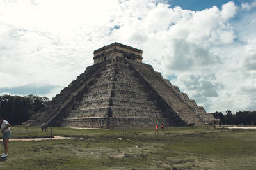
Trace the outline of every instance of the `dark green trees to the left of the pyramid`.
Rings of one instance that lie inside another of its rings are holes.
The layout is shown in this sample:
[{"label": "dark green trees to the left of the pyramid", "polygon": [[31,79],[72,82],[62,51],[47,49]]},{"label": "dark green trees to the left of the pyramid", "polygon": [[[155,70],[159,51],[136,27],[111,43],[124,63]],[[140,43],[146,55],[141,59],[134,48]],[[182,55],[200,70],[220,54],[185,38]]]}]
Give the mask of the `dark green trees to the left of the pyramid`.
[{"label": "dark green trees to the left of the pyramid", "polygon": [[21,125],[39,110],[47,106],[49,99],[33,94],[28,96],[0,96],[0,117],[11,125]]}]

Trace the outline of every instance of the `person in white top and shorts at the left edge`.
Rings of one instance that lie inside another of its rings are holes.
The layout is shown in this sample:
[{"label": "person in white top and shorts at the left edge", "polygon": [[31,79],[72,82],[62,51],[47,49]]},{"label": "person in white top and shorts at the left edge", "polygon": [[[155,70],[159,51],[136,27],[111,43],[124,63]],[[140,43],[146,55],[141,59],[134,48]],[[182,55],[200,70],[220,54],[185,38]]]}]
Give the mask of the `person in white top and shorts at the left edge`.
[{"label": "person in white top and shorts at the left edge", "polygon": [[10,124],[6,120],[3,120],[3,118],[0,117],[0,124],[1,125],[1,132],[3,133],[3,143],[4,143],[4,153],[1,157],[7,157],[8,156],[8,142],[11,138],[11,129]]}]

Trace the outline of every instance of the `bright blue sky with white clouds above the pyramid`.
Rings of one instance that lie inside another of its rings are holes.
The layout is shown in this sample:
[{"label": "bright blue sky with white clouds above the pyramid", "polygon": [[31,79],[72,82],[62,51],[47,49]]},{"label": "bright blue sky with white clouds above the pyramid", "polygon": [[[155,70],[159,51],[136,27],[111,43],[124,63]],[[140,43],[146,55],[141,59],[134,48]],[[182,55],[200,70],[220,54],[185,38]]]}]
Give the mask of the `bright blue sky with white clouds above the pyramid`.
[{"label": "bright blue sky with white clouds above the pyramid", "polygon": [[256,0],[0,0],[0,94],[49,99],[113,42],[209,113],[256,110]]}]

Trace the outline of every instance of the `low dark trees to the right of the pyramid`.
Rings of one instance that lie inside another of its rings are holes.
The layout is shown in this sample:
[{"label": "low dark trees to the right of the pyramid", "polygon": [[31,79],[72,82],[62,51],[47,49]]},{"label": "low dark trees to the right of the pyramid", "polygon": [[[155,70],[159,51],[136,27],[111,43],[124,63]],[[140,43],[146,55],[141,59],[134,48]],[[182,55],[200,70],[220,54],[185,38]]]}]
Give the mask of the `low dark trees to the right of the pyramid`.
[{"label": "low dark trees to the right of the pyramid", "polygon": [[220,118],[222,124],[225,125],[256,125],[256,111],[239,111],[232,114],[227,110],[225,114],[222,112],[213,113],[214,118]]}]

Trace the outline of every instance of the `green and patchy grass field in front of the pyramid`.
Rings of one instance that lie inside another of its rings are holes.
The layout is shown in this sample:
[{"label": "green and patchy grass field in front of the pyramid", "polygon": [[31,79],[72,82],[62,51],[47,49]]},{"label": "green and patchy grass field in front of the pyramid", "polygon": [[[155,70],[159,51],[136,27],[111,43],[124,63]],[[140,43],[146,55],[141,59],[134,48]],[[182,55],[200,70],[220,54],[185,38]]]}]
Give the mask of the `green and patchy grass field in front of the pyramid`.
[{"label": "green and patchy grass field in front of the pyramid", "polygon": [[[256,169],[255,129],[168,127],[67,129],[54,136],[82,139],[10,141],[0,169]],[[12,138],[46,138],[39,127],[12,127]],[[0,146],[4,152],[3,145]]]}]

